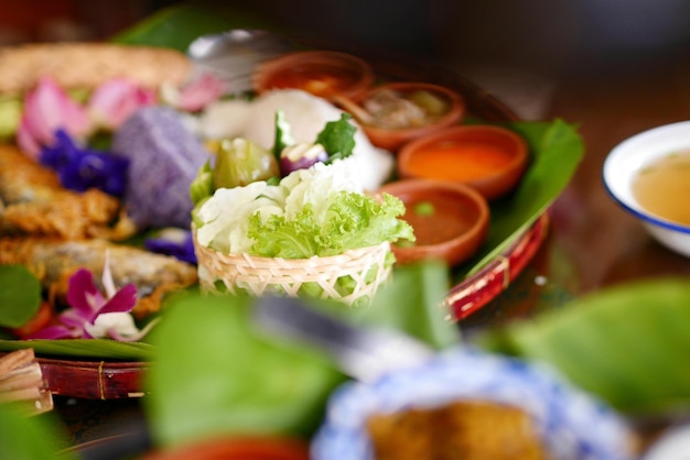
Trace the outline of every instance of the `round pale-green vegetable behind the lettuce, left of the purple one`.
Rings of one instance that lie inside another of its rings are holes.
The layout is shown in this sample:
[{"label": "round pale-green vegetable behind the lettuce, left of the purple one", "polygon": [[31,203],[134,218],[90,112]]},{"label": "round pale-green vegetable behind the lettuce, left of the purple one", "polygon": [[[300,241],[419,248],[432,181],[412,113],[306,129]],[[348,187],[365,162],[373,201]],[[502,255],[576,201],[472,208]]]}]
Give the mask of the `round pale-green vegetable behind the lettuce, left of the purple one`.
[{"label": "round pale-green vegetable behind the lettuce, left of the purple one", "polygon": [[224,139],[216,150],[213,186],[231,188],[278,176],[278,162],[271,152],[246,139]]}]

